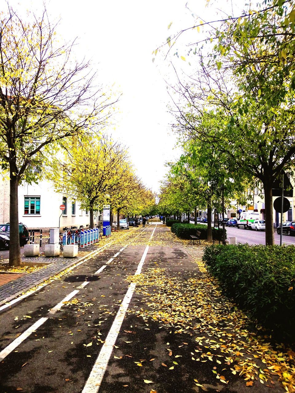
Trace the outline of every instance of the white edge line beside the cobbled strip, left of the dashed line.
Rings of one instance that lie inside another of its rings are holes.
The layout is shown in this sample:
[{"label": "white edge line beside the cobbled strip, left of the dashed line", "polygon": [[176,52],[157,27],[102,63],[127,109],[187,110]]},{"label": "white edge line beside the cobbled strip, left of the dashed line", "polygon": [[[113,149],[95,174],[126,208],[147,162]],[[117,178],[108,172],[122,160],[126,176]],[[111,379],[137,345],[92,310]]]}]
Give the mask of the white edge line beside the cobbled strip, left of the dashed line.
[{"label": "white edge line beside the cobbled strip, left of the dashed line", "polygon": [[[90,252],[89,254],[84,255],[83,257],[81,257],[81,258],[79,258],[79,259],[76,259],[75,261],[72,261],[71,263],[68,263],[66,266],[63,266],[61,269],[59,269],[59,270],[57,270],[56,272],[54,272],[54,274],[51,273],[51,274],[48,274],[48,275],[45,276],[45,277],[42,277],[42,279],[40,279],[39,281],[36,281],[34,284],[31,284],[31,285],[27,286],[26,288],[22,289],[21,291],[18,291],[17,293],[15,293],[15,294],[9,296],[8,298],[2,300],[2,301],[0,302],[0,306],[3,306],[3,305],[5,305],[6,303],[9,303],[9,301],[11,301],[11,300],[17,298],[18,296],[24,294],[24,292],[29,291],[29,290],[30,290],[31,288],[33,288],[34,286],[37,286],[37,285],[41,284],[43,281],[46,281],[46,280],[50,279],[51,277],[55,276],[56,274],[59,274],[59,273],[63,272],[63,271],[66,270],[67,268],[69,268],[69,267],[71,267],[71,266],[74,266],[74,265],[80,263],[80,262],[83,261],[84,259],[89,258],[89,257],[93,257],[95,254],[99,253],[100,251],[102,251],[102,250],[103,250],[104,248],[106,248],[107,246],[111,246],[112,243],[113,243],[113,242],[109,242],[109,243],[105,244],[104,246],[98,248],[98,250],[94,250],[94,251]],[[42,287],[39,288],[39,289],[37,288],[35,292],[32,292],[32,294],[33,294],[33,293],[39,292],[39,290],[41,290],[42,288],[44,288],[44,286],[42,286]],[[26,298],[20,298],[19,301],[16,301],[15,303],[13,303],[13,305],[11,305],[11,307],[9,307],[8,309],[0,310],[0,314],[2,314],[2,312],[5,312],[5,311],[7,311],[7,310],[10,310],[12,307],[14,307],[15,305],[19,304],[19,303],[20,303],[22,300],[24,300],[24,299],[26,299]]]}]

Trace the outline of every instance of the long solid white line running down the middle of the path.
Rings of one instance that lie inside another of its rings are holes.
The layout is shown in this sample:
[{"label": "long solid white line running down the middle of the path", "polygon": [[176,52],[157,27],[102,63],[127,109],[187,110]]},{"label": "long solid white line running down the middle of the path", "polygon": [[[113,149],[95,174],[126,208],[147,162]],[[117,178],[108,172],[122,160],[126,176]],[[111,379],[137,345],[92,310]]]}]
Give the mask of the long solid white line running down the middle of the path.
[{"label": "long solid white line running down the middle of the path", "polygon": [[[144,250],[144,253],[142,255],[140,263],[138,264],[135,274],[140,274],[142,265],[144,263],[144,259],[146,258],[148,248],[149,248],[149,246],[147,246],[146,249]],[[98,392],[98,389],[100,388],[100,384],[101,384],[103,375],[105,373],[105,370],[107,369],[107,365],[109,363],[109,359],[112,354],[113,345],[116,343],[116,339],[117,339],[118,334],[120,332],[125,313],[128,309],[133,292],[135,290],[135,286],[136,286],[135,283],[131,283],[129,285],[129,288],[128,288],[128,290],[124,296],[124,299],[120,305],[119,311],[114,319],[114,322],[112,323],[112,326],[111,326],[111,329],[109,330],[107,338],[105,339],[105,342],[103,343],[103,346],[101,347],[98,358],[96,359],[96,362],[94,363],[94,366],[93,366],[91,373],[86,381],[86,384],[82,390],[82,393],[96,393],[96,392]]]}]

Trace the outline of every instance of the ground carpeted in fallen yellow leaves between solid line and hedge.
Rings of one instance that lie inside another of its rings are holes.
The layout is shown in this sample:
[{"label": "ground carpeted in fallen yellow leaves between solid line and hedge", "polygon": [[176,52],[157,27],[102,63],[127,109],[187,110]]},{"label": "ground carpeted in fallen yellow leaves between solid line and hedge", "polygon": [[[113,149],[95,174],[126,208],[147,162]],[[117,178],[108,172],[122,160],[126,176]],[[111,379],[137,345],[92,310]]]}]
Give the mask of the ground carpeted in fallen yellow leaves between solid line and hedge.
[{"label": "ground carpeted in fallen yellow leaves between solid line and hedge", "polygon": [[[135,239],[134,244],[144,241]],[[279,381],[286,391],[295,392],[295,352],[284,343],[275,343],[263,327],[221,294],[201,262],[206,242],[190,246],[189,241],[166,231],[156,232],[147,244],[183,247],[198,269],[177,277],[160,256],[155,258],[153,267],[127,278],[136,283],[136,293],[142,298],[141,307],[129,314],[182,334],[183,342],[194,340],[194,352],[188,350],[186,356],[194,362],[212,362],[212,373],[223,384],[230,384],[230,375],[239,375],[253,389],[257,383],[274,388]],[[201,387],[202,381],[195,384]]]}]

